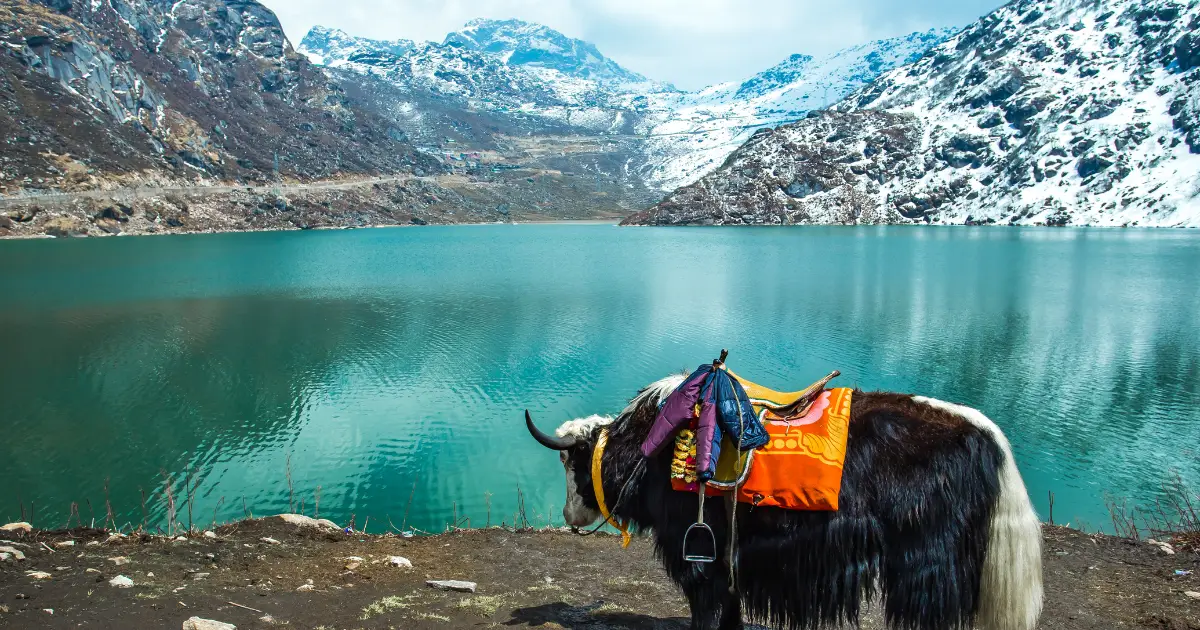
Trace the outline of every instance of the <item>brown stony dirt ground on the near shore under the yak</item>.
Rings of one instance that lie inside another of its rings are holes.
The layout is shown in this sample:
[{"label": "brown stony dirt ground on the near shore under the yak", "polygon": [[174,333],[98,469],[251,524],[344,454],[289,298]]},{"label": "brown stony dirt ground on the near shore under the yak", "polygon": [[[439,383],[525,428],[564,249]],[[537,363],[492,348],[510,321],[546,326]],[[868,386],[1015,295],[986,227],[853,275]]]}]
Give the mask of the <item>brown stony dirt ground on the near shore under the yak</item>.
[{"label": "brown stony dirt ground on the near shore under the yak", "polygon": [[[647,540],[622,550],[613,536],[500,529],[404,539],[278,518],[215,534],[0,533],[0,547],[25,556],[0,562],[0,628],[176,630],[192,616],[240,629],[686,628],[686,604]],[[391,566],[391,556],[413,568]],[[109,584],[118,576],[133,586]],[[427,580],[468,580],[478,592]],[[1048,527],[1045,582],[1043,629],[1200,630],[1200,600],[1186,595],[1200,590],[1200,554]],[[864,628],[882,626],[870,613]]]}]

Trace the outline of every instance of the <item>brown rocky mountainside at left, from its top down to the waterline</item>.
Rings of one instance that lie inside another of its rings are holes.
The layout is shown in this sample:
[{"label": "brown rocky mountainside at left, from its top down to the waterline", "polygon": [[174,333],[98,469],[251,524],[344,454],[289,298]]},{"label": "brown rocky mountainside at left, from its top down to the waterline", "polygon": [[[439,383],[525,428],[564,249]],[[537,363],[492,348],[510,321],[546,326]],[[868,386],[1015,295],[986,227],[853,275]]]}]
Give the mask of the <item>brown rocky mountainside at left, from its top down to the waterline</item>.
[{"label": "brown rocky mountainside at left, from its top down to the waterline", "polygon": [[[530,114],[342,80],[253,0],[0,0],[0,238],[583,218],[653,200],[607,142],[553,120],[536,142]],[[491,62],[460,50],[446,72]],[[498,140],[468,148],[479,137]],[[494,160],[508,145],[532,157]]]}]

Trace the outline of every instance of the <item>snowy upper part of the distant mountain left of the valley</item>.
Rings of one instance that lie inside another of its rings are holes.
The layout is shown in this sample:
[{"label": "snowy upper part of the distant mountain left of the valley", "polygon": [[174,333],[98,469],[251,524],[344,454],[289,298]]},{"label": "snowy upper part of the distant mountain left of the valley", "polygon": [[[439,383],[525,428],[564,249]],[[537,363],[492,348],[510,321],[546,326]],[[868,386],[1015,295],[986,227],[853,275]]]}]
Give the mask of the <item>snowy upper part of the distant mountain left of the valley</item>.
[{"label": "snowy upper part of the distant mountain left of the valley", "polygon": [[[371,76],[440,107],[586,133],[626,132],[637,95],[673,91],[622,68],[594,46],[520,20],[473,20],[445,42],[378,41],[314,28],[300,52],[330,68]],[[412,104],[412,103],[409,103]]]}]

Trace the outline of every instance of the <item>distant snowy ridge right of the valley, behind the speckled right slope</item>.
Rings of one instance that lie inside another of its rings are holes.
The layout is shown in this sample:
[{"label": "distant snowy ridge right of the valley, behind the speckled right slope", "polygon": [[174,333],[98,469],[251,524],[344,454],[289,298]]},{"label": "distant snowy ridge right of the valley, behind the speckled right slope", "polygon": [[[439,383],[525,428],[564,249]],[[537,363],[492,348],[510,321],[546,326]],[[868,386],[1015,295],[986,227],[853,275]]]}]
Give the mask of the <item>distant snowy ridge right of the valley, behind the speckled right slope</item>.
[{"label": "distant snowy ridge right of the valley, behind the speckled right slope", "polygon": [[674,95],[649,130],[646,179],[661,190],[696,181],[719,167],[757,130],[804,118],[916,61],[955,29],[931,29],[878,40],[814,59],[794,54],[740,83]]}]

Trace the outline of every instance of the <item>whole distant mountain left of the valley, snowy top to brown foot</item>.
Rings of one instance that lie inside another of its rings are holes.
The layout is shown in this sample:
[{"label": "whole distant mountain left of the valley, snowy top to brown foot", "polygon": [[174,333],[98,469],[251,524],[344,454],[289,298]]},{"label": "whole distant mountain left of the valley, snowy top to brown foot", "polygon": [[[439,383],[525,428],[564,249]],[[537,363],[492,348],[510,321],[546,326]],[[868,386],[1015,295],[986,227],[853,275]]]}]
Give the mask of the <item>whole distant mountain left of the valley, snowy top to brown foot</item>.
[{"label": "whole distant mountain left of the valley, snowy top to brown foot", "polygon": [[590,191],[598,212],[623,215],[658,198],[638,176],[641,130],[653,114],[644,95],[673,88],[587,42],[518,20],[473,20],[442,43],[314,28],[299,49],[456,173],[559,178],[542,206]]}]

